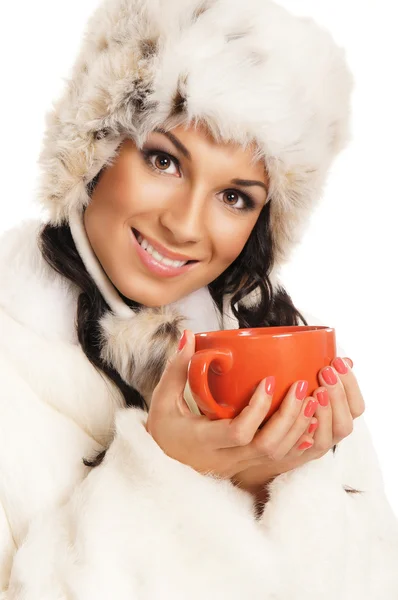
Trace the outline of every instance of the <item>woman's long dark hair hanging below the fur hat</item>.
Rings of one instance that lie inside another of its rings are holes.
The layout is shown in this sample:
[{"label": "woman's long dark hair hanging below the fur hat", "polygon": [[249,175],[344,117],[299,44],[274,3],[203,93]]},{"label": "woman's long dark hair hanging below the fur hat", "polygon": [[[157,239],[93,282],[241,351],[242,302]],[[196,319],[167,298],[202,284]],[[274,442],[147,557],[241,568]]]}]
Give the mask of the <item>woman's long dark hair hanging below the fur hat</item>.
[{"label": "woman's long dark hair hanging below the fur hat", "polygon": [[[98,181],[99,175],[89,185],[89,193]],[[290,296],[282,288],[272,289],[268,274],[274,264],[273,245],[269,227],[270,204],[267,202],[253,231],[236,260],[208,288],[220,312],[223,296],[232,294],[231,307],[240,328],[299,325],[299,319],[307,325],[304,317],[295,308]],[[123,394],[127,406],[146,408],[144,398],[128,385],[120,374],[106,365],[100,358],[101,344],[99,320],[109,310],[109,306],[87,272],[76,249],[69,224],[43,226],[39,236],[39,247],[46,262],[60,275],[81,290],[76,313],[76,329],[79,343],[91,364],[105,373]],[[260,289],[260,302],[254,308],[235,304],[255,288]],[[123,296],[130,307],[139,310],[140,304]],[[105,454],[102,452],[94,461],[86,461],[89,466],[99,464]]]}]

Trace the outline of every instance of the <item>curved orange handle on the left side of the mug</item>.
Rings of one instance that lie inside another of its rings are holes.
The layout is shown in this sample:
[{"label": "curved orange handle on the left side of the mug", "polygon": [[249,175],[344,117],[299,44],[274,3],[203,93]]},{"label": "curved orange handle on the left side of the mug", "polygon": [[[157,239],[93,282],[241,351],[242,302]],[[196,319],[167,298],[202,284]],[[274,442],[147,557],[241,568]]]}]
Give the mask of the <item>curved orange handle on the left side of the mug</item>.
[{"label": "curved orange handle on the left side of the mug", "polygon": [[188,367],[188,381],[192,396],[203,412],[213,413],[214,416],[209,416],[210,419],[233,419],[236,416],[236,409],[233,406],[218,404],[210,391],[208,377],[213,362],[216,364],[212,369],[217,374],[228,373],[234,362],[231,350],[208,349],[195,352]]}]

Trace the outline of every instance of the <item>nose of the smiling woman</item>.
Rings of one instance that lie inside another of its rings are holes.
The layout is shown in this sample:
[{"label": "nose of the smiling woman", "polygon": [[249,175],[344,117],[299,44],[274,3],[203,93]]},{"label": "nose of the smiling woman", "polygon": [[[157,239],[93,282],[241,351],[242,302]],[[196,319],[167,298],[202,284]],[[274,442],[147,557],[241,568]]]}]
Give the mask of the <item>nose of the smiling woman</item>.
[{"label": "nose of the smiling woman", "polygon": [[206,232],[207,195],[204,190],[185,190],[177,194],[163,211],[160,221],[175,244],[201,241]]}]

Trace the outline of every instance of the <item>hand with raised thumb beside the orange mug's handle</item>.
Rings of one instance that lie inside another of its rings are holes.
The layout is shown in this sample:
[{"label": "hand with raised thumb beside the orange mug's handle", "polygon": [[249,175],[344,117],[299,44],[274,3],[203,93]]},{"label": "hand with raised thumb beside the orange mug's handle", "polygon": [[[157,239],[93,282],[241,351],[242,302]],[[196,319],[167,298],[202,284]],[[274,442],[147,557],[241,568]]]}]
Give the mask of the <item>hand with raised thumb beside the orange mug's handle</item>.
[{"label": "hand with raised thumb beside the orange mug's handle", "polygon": [[[297,466],[306,462],[303,460],[306,448],[300,446],[304,442],[312,445],[313,436],[308,428],[314,421],[311,417],[317,400],[313,397],[297,400],[296,382],[278,411],[259,430],[272,400],[262,381],[250,405],[235,418],[211,421],[203,415],[194,415],[183,397],[189,361],[195,352],[194,334],[186,330],[186,336],[185,346],[168,361],[153,392],[146,425],[165,454],[200,473],[228,479],[258,465],[259,460],[263,466],[267,462],[270,479],[283,472],[281,463],[286,455],[297,458]],[[309,406],[312,409],[308,414]],[[281,440],[277,456],[267,452],[267,443],[274,443],[275,435]],[[295,461],[290,460],[289,466],[294,468]]]}]

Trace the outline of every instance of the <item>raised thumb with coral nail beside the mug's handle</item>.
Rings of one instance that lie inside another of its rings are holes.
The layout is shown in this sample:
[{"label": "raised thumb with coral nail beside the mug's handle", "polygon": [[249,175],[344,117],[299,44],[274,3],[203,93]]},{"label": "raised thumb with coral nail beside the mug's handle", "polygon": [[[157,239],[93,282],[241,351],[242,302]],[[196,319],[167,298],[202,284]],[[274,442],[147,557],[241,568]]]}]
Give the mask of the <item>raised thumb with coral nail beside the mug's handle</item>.
[{"label": "raised thumb with coral nail beside the mug's handle", "polygon": [[195,335],[185,329],[175,354],[168,360],[152,397],[152,402],[158,400],[173,409],[178,398],[184,393],[187,382],[188,365],[195,353]]}]

